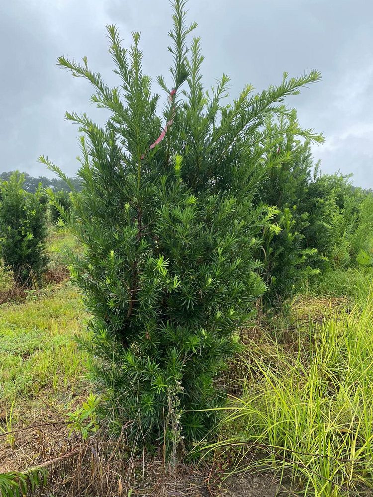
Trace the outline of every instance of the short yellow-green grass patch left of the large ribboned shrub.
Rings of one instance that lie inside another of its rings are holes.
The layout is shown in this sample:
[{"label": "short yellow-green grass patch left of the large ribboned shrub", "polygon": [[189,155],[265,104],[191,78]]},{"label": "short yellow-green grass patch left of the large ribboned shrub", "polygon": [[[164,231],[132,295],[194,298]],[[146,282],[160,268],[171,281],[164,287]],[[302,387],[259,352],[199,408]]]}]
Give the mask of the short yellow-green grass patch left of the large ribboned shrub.
[{"label": "short yellow-green grass patch left of the large ribboned shrub", "polygon": [[66,281],[0,306],[0,414],[12,403],[66,400],[81,390],[85,357],[74,335],[82,318],[80,299]]}]

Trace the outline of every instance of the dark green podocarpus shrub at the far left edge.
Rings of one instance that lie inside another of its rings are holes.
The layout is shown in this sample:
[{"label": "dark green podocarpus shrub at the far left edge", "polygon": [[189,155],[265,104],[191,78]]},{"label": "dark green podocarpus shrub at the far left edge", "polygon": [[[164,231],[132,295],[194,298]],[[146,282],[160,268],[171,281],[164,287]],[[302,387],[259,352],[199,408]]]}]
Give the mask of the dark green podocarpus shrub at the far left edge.
[{"label": "dark green podocarpus shrub at the far left edge", "polygon": [[16,281],[31,284],[47,265],[45,206],[36,193],[23,190],[23,175],[15,171],[1,186],[0,257],[10,266]]}]

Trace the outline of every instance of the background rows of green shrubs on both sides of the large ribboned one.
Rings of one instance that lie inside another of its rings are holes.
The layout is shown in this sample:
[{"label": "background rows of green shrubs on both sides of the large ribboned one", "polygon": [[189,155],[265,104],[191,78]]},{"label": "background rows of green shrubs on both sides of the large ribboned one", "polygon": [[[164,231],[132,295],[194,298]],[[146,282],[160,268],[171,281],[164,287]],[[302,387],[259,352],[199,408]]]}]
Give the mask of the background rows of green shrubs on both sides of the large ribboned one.
[{"label": "background rows of green shrubs on both sides of the large ribboned one", "polygon": [[[267,126],[271,132],[274,124]],[[307,141],[287,135],[276,147],[265,156],[254,201],[270,214],[263,218],[257,254],[268,287],[266,309],[278,308],[320,270],[373,262],[372,191],[354,187],[350,176],[321,174]],[[58,225],[61,209],[70,212],[70,194],[54,192],[49,202],[41,184],[32,194],[24,174],[15,171],[2,182],[0,202],[2,271],[6,261],[20,281],[31,273],[39,278],[46,267],[47,222]]]}]

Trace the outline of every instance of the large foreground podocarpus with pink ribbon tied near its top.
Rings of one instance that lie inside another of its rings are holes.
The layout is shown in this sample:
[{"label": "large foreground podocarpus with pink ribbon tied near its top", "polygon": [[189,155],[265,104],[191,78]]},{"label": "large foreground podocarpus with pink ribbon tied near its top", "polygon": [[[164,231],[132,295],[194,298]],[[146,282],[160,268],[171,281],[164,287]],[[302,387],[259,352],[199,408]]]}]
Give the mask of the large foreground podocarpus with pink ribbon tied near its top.
[{"label": "large foreground podocarpus with pink ribbon tied near its top", "polygon": [[223,105],[228,78],[204,90],[199,39],[187,48],[195,24],[186,24],[185,1],[172,6],[171,77],[168,84],[158,78],[168,96],[161,136],[159,96],[143,74],[138,33],[126,50],[117,29],[107,28],[116,88],[86,58],[59,59],[88,79],[93,102],[112,112],[103,127],[67,114],[84,133],[83,190],[73,194],[73,213],[62,213],[82,245],[71,254],[71,270],[92,315],[80,342],[92,354],[109,418],[166,445],[200,439],[214,427],[210,409],[224,402],[214,382],[265,291],[254,257],[262,210],[252,202],[275,139],[263,124],[289,112],[281,103],[286,95],[319,79],[317,72],[285,77],[258,95],[247,86]]}]

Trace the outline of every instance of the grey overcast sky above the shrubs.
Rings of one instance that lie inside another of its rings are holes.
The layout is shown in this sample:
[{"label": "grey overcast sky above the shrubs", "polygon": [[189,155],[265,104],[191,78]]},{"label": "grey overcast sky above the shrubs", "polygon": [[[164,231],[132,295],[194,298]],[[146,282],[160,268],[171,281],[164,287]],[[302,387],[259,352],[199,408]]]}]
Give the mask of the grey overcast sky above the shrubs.
[{"label": "grey overcast sky above the shrubs", "polygon": [[[321,83],[293,97],[304,127],[326,137],[314,148],[325,172],[352,172],[373,187],[373,2],[371,0],[189,0],[199,24],[205,82],[227,73],[232,98],[245,83],[258,90],[280,83],[283,71],[322,72]],[[155,78],[170,64],[167,0],[2,0],[0,2],[0,172],[51,175],[47,155],[73,175],[77,129],[66,110],[100,112],[88,82],[56,68],[59,55],[88,56],[109,82],[105,24],[119,26],[128,45],[141,31],[144,71]],[[156,89],[156,87],[154,87]]]}]

